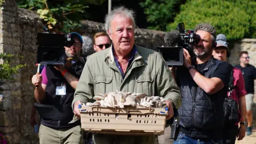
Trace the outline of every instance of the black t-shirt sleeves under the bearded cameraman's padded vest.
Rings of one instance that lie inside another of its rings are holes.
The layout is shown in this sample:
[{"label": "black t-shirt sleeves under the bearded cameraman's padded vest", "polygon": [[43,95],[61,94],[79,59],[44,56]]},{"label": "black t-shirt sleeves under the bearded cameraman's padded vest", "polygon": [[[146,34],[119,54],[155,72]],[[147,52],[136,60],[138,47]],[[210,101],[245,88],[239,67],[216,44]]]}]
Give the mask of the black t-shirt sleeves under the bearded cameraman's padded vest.
[{"label": "black t-shirt sleeves under the bearded cameraman's padded vest", "polygon": [[[208,61],[206,61],[202,64],[199,64],[199,65],[195,65],[195,68],[198,70],[199,73],[200,73],[200,71],[203,71],[207,62]],[[233,69],[233,66],[231,66],[228,62],[221,62],[220,65],[215,70],[215,72],[212,74],[211,78],[218,77],[221,79],[224,86],[228,86],[232,69]]]}]

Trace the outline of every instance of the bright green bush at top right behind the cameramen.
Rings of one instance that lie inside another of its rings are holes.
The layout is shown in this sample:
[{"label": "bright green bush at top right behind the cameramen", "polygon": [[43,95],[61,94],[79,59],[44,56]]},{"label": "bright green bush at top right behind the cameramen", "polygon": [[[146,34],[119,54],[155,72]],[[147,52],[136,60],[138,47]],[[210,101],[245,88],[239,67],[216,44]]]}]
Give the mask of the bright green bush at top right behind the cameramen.
[{"label": "bright green bush at top right behind the cameramen", "polygon": [[256,36],[256,2],[250,0],[194,0],[181,5],[181,12],[167,26],[173,30],[184,22],[186,29],[196,24],[211,23],[218,34],[225,34],[229,41]]}]

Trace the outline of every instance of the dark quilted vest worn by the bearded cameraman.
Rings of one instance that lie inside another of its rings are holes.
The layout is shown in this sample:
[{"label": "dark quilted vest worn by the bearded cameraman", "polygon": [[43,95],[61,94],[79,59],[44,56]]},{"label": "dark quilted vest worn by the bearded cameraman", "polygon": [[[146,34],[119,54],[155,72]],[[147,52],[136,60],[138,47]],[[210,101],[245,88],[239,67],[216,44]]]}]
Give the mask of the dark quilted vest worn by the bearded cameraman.
[{"label": "dark quilted vest worn by the bearded cameraman", "polygon": [[[198,72],[211,78],[221,62],[212,57],[205,68]],[[217,93],[207,94],[194,82],[186,68],[177,71],[177,82],[182,98],[178,110],[181,131],[193,138],[219,138],[224,121],[223,101],[227,87]]]}]

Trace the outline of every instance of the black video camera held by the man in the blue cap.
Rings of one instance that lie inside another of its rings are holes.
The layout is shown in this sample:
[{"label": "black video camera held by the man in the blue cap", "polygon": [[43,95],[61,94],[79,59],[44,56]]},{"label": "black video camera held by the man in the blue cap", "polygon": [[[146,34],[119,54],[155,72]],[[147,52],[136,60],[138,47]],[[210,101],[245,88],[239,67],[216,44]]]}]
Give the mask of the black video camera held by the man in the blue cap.
[{"label": "black video camera held by the man in the blue cap", "polygon": [[43,33],[37,33],[37,63],[41,65],[65,65],[65,47],[75,43],[74,38],[64,34],[50,34],[46,27]]}]

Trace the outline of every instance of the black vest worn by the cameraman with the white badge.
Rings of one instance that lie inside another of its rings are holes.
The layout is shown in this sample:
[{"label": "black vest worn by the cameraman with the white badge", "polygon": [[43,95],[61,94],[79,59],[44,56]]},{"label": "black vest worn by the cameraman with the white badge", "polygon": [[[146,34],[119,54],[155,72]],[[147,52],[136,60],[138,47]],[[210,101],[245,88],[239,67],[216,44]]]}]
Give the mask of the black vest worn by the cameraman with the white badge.
[{"label": "black vest worn by the cameraman with the white badge", "polygon": [[[67,69],[70,74],[79,78],[82,74],[85,61],[78,61]],[[52,128],[68,128],[80,125],[81,122],[77,121],[73,124],[68,124],[72,121],[74,113],[71,103],[74,99],[75,90],[69,85],[65,77],[62,76],[60,71],[56,70],[53,66],[46,66],[46,76],[48,79],[45,100],[43,103],[37,103],[39,115],[42,117],[41,124]],[[66,86],[66,95],[56,95],[57,86]]]}]

